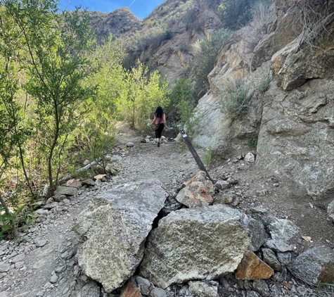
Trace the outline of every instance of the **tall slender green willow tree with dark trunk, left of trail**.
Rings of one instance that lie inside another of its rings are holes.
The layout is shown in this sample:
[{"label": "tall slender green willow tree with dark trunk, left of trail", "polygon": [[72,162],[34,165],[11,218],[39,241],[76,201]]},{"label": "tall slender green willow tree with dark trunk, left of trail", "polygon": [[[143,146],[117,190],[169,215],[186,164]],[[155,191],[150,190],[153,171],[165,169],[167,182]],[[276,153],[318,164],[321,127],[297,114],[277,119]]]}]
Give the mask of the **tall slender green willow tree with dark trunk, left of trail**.
[{"label": "tall slender green willow tree with dark trunk, left of trail", "polygon": [[90,73],[84,55],[92,44],[89,18],[79,8],[58,13],[55,0],[4,0],[1,4],[23,36],[24,89],[34,101],[34,139],[46,159],[52,195],[65,146],[80,119],[79,106],[94,94],[94,87],[82,85]]}]

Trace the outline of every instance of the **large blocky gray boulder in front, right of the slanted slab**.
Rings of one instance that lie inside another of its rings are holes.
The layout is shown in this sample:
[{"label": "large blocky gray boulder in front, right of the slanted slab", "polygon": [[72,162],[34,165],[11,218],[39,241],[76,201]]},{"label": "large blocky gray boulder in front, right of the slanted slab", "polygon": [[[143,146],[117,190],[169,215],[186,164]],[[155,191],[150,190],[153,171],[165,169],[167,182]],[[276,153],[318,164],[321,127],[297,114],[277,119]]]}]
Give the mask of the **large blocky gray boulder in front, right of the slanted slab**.
[{"label": "large blocky gray boulder in front, right of the slanted slab", "polygon": [[250,244],[242,215],[227,206],[177,210],[148,239],[140,274],[160,288],[233,272]]}]

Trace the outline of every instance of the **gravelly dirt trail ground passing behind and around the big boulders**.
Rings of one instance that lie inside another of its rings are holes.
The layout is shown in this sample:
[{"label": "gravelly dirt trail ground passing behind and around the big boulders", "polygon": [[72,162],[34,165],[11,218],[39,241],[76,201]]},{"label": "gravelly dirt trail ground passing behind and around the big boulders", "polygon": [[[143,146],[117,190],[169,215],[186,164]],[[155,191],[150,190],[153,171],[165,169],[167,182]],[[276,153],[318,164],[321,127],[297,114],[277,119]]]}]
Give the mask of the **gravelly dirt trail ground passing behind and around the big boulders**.
[{"label": "gravelly dirt trail ground passing behind and around the big boulders", "polygon": [[[116,177],[91,189],[79,189],[76,196],[58,203],[46,215],[39,215],[36,222],[21,234],[25,242],[1,241],[0,297],[77,296],[86,284],[86,277],[80,275],[75,262],[77,239],[72,224],[89,200],[115,184],[150,178],[160,179],[169,194],[174,195],[182,182],[198,172],[191,153],[182,150],[175,141],[168,141],[158,148],[152,142],[141,143],[146,134],[137,134],[127,125],[118,126],[117,131],[119,144],[113,153],[122,156],[122,160],[115,163],[119,170]],[[150,134],[153,137],[153,132]],[[129,141],[134,147],[127,148]],[[202,158],[207,155],[203,149],[198,149],[198,153]],[[293,198],[289,190],[293,185],[271,172],[258,172],[243,160],[231,160],[209,172],[214,179],[231,177],[236,180],[233,189],[228,190],[236,197],[233,207],[250,215],[250,210],[259,206],[266,208],[268,213],[296,222],[302,235],[311,236],[313,241],[300,240],[298,251],[314,245],[334,247],[334,225],[327,220],[323,202],[314,203],[307,197]]]}]

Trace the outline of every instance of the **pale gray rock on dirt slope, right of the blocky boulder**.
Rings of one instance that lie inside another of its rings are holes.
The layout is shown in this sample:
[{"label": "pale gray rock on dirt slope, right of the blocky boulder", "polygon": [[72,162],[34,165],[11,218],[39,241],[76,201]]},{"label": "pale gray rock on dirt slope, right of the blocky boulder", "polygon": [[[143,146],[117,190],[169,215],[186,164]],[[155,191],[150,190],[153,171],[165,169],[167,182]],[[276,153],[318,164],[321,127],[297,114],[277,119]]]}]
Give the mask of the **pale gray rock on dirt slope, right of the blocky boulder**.
[{"label": "pale gray rock on dirt slope, right of the blocky boulder", "polygon": [[272,239],[277,239],[288,243],[290,239],[296,238],[300,234],[300,228],[290,220],[270,217],[271,222],[268,225]]}]

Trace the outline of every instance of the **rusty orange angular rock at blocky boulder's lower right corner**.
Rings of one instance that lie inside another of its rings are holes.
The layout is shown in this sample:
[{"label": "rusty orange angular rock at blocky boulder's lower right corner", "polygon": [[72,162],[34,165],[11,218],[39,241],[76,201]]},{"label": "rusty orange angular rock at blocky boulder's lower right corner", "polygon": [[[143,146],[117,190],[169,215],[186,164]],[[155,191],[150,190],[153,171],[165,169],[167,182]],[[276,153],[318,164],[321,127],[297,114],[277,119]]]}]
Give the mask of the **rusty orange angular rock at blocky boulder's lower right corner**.
[{"label": "rusty orange angular rock at blocky boulder's lower right corner", "polygon": [[274,270],[255,253],[246,251],[236,271],[236,279],[269,279]]}]

